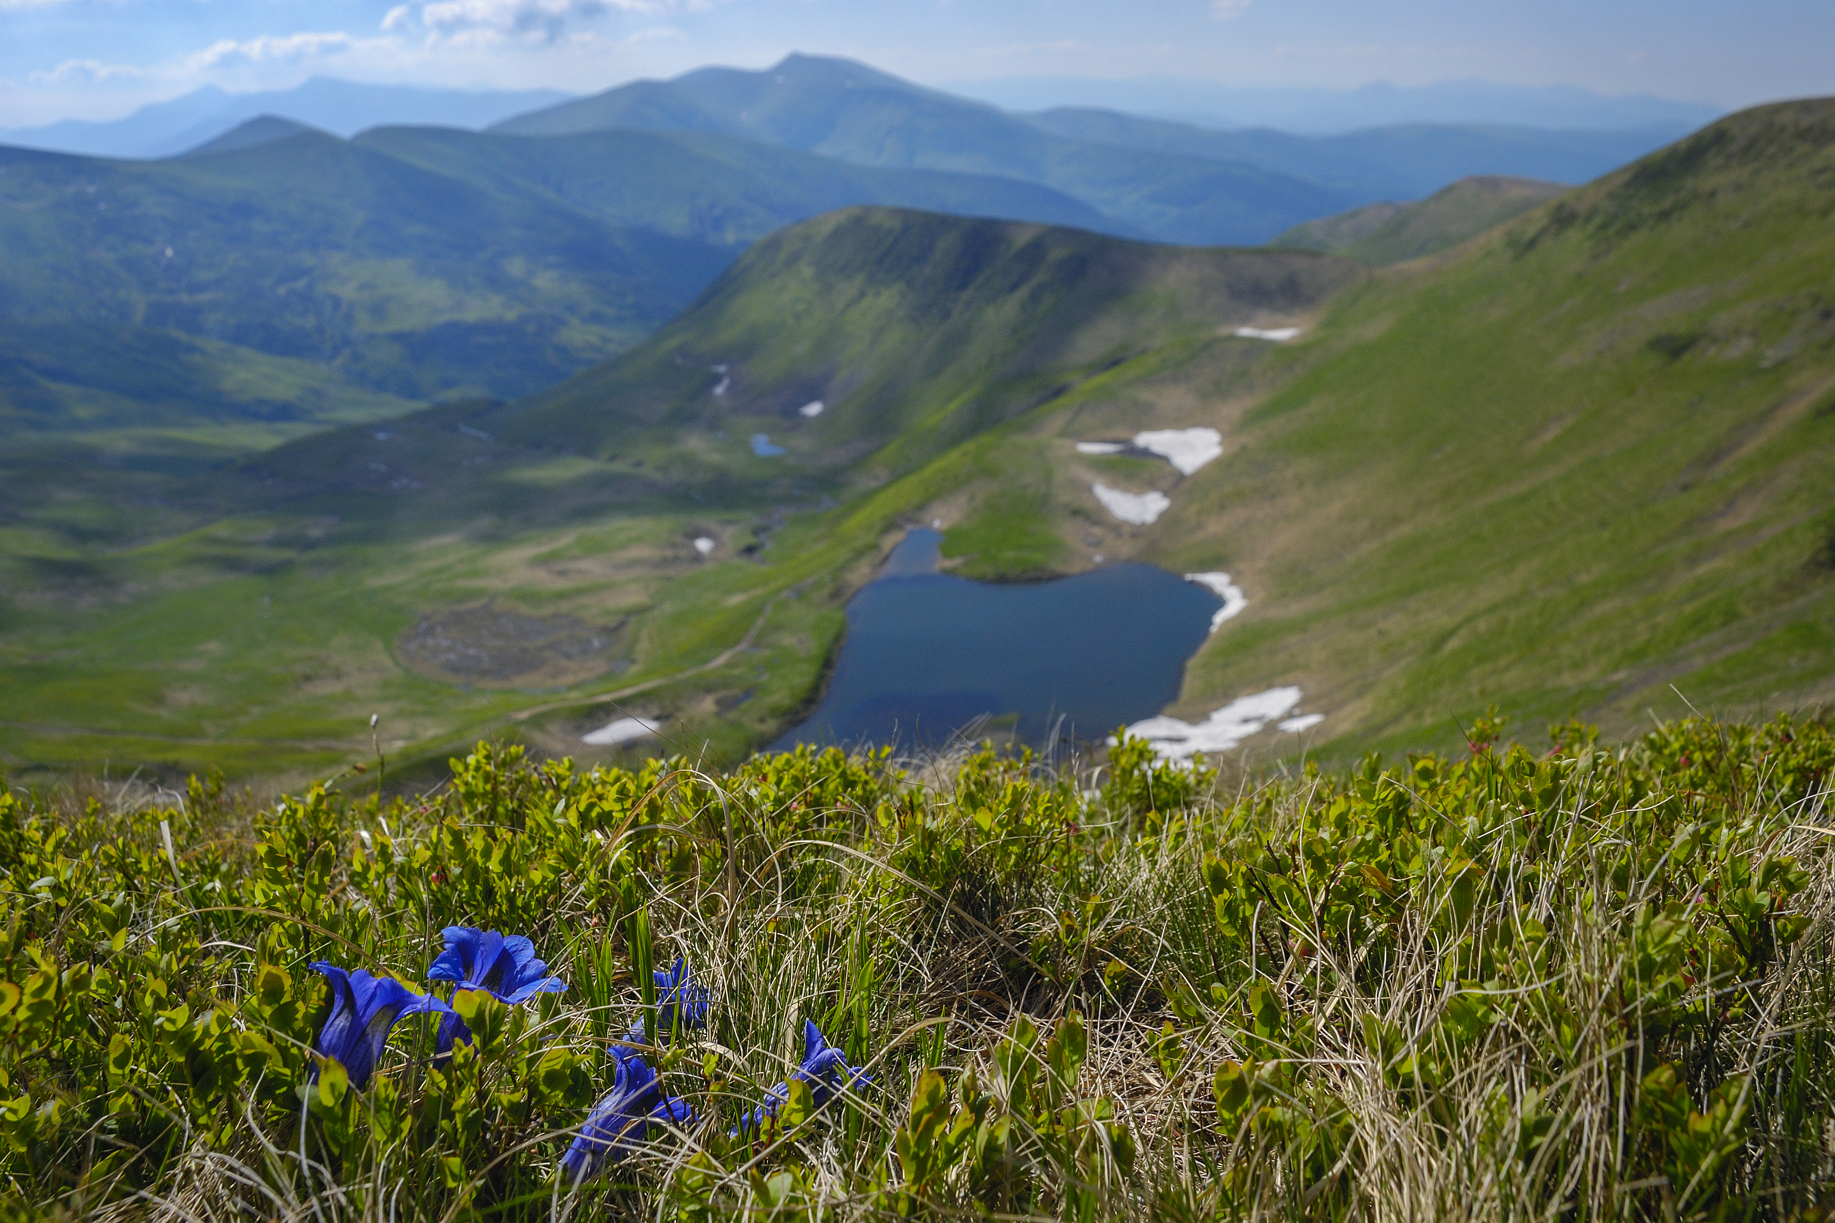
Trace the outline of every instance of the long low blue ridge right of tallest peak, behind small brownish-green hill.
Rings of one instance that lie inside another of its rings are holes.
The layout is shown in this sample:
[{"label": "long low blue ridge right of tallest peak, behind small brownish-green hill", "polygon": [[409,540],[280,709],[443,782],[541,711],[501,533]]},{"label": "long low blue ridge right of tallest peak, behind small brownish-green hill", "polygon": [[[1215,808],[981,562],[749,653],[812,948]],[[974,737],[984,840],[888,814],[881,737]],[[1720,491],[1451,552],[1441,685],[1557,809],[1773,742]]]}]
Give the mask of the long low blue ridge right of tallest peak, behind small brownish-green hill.
[{"label": "long low blue ridge right of tallest peak, behind small brownish-green hill", "polygon": [[1406,123],[1341,136],[1296,136],[1270,128],[1220,132],[1083,106],[1046,110],[1026,119],[1070,139],[1213,161],[1246,161],[1365,198],[1400,200],[1417,200],[1472,176],[1584,183],[1688,132],[1677,125],[1549,130]]}]

